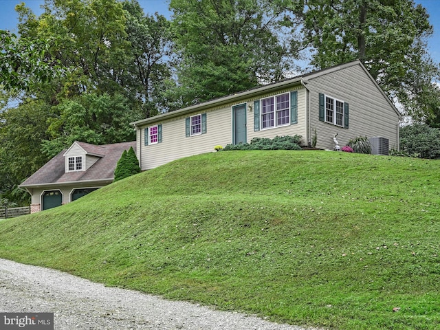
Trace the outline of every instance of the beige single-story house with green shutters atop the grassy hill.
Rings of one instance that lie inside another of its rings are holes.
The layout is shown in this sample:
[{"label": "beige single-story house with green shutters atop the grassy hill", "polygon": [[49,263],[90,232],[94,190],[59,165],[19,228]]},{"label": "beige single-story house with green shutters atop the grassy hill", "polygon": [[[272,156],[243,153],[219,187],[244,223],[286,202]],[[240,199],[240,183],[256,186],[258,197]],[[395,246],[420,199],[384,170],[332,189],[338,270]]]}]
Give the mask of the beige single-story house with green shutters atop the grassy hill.
[{"label": "beige single-story house with green shutters atop the grassy hill", "polygon": [[332,150],[336,134],[340,146],[366,135],[388,153],[388,148],[399,149],[401,118],[366,67],[353,61],[132,124],[137,159],[148,170],[214,152],[217,145],[277,135],[301,135],[303,146],[315,137],[316,148]]}]

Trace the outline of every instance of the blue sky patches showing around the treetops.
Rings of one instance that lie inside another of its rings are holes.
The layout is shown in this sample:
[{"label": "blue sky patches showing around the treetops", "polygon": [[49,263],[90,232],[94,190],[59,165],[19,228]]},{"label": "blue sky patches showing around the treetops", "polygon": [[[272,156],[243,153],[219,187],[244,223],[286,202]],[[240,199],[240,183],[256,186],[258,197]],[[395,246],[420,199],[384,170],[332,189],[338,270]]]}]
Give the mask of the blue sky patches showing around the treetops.
[{"label": "blue sky patches showing around the treetops", "polygon": [[[159,14],[165,17],[170,17],[168,11],[168,1],[165,0],[137,0],[144,12],[153,14],[159,12]],[[44,0],[0,0],[0,30],[10,30],[11,32],[17,32],[17,12],[15,12],[15,5],[24,2],[29,8],[32,9],[37,16],[43,12],[40,6],[44,3]],[[428,41],[428,51],[432,59],[436,63],[440,63],[440,0],[415,0],[415,3],[423,5],[428,14],[430,15],[430,23],[434,27],[434,34]]]}]

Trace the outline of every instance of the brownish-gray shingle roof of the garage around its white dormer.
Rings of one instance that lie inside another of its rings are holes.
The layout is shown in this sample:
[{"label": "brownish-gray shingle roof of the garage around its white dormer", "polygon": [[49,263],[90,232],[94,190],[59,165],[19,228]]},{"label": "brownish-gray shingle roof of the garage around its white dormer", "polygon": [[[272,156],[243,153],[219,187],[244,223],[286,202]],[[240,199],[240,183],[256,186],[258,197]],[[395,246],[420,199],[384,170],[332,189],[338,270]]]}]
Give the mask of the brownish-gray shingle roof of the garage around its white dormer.
[{"label": "brownish-gray shingle roof of the garage around its white dormer", "polygon": [[75,181],[102,181],[113,180],[116,164],[124,150],[131,146],[136,150],[136,142],[122,142],[96,146],[85,142],[76,142],[87,154],[100,155],[100,159],[88,170],[65,173],[65,157],[67,149],[50,159],[43,167],[26,179],[21,188],[47,184],[66,184]]}]

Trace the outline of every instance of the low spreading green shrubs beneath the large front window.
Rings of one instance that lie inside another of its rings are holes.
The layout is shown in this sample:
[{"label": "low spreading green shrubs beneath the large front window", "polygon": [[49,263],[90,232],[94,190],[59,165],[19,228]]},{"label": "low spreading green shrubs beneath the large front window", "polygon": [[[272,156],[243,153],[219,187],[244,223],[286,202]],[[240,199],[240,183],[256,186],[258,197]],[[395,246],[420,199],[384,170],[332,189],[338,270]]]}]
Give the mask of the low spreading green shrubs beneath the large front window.
[{"label": "low spreading green shrubs beneath the large front window", "polygon": [[250,144],[227,144],[223,151],[230,150],[301,150],[300,135],[276,136],[272,140],[267,137],[254,137]]}]

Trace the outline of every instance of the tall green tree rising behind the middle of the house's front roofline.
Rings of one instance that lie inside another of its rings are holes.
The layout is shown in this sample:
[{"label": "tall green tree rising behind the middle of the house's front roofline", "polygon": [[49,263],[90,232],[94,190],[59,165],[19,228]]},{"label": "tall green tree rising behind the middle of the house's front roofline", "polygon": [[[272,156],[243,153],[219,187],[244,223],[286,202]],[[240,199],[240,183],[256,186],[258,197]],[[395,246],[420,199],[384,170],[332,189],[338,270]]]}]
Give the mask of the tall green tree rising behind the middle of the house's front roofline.
[{"label": "tall green tree rising behind the middle of the house's front roofline", "polygon": [[279,80],[291,68],[283,2],[171,0],[182,104]]}]

